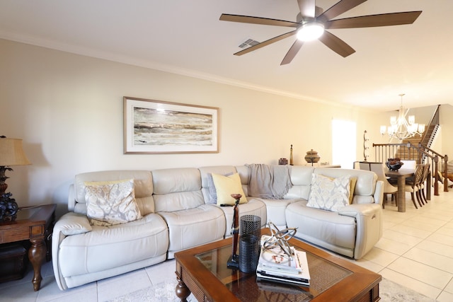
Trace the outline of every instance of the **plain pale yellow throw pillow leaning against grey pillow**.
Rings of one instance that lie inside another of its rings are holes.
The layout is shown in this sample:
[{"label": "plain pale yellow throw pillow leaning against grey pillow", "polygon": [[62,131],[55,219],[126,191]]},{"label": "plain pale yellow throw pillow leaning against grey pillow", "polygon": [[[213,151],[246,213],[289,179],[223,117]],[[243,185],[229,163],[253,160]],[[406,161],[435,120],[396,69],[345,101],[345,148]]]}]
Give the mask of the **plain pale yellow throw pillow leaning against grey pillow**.
[{"label": "plain pale yellow throw pillow leaning against grey pillow", "polygon": [[247,202],[238,173],[229,176],[212,173],[212,180],[214,180],[214,186],[217,192],[217,205],[236,204],[236,200],[231,197],[231,194],[242,195],[241,199],[239,199],[239,204]]}]

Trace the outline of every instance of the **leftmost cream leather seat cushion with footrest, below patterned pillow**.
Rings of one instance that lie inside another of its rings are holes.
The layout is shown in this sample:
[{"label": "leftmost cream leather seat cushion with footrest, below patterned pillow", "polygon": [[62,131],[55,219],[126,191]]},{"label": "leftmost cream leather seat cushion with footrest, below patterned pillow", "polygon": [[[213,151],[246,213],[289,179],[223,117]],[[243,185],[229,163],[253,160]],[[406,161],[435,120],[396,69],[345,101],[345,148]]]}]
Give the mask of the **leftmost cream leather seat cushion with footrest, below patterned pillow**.
[{"label": "leftmost cream leather seat cushion with footrest, below patterned pillow", "polygon": [[166,255],[167,248],[164,219],[148,214],[130,223],[93,226],[91,232],[67,236],[59,243],[59,266],[63,277],[75,277]]}]

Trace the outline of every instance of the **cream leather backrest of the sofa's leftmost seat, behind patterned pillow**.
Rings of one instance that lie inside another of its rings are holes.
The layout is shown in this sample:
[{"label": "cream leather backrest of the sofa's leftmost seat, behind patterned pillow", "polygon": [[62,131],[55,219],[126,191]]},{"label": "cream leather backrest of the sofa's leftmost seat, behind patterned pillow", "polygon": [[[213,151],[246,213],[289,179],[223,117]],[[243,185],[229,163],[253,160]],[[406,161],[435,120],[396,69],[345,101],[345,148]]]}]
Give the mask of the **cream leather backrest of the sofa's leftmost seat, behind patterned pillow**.
[{"label": "cream leather backrest of the sofa's leftmost seat, behind patterned pillow", "polygon": [[142,215],[154,213],[153,180],[151,172],[144,170],[110,170],[77,174],[74,194],[69,194],[70,211],[86,214],[85,182],[134,179],[135,199]]}]

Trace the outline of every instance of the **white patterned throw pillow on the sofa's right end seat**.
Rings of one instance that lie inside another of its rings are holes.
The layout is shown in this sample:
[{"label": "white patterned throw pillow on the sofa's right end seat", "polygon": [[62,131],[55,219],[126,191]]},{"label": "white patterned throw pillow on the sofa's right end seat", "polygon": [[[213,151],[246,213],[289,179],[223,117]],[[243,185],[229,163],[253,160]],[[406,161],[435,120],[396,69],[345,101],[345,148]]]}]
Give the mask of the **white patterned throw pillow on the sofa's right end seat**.
[{"label": "white patterned throw pillow on the sofa's right end seat", "polygon": [[349,204],[350,176],[328,178],[319,174],[311,175],[311,190],[307,207],[338,211]]}]

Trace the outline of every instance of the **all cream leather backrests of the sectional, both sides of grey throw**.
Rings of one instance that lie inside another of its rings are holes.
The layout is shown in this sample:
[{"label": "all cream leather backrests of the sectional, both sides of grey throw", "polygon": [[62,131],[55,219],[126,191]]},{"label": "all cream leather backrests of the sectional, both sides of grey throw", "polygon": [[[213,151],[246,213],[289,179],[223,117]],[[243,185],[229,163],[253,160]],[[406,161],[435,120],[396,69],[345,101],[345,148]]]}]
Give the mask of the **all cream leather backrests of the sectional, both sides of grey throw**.
[{"label": "all cream leather backrests of the sectional, both sides of grey throw", "polygon": [[[142,215],[159,211],[180,211],[210,203],[207,175],[239,173],[243,192],[248,197],[249,169],[246,165],[216,165],[202,168],[169,168],[161,170],[110,170],[76,175],[69,194],[68,208],[86,214],[86,181],[112,181],[134,179],[135,198]],[[291,166],[292,187],[285,199],[309,199],[311,174],[331,178],[350,175],[357,178],[352,203],[376,202],[374,194],[377,175],[371,171],[340,168],[314,168],[306,165]],[[377,201],[380,202],[380,201]]]}]

